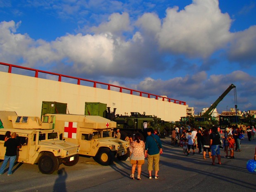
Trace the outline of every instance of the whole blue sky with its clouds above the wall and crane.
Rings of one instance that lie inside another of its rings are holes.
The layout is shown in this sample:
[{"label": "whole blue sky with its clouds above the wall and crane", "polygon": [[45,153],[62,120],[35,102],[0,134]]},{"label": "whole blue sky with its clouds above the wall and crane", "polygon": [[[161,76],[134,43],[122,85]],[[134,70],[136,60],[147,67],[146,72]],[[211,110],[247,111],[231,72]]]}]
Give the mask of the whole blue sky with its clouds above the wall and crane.
[{"label": "whole blue sky with its clouds above the wall and crane", "polygon": [[0,62],[256,110],[256,2],[0,0]]}]

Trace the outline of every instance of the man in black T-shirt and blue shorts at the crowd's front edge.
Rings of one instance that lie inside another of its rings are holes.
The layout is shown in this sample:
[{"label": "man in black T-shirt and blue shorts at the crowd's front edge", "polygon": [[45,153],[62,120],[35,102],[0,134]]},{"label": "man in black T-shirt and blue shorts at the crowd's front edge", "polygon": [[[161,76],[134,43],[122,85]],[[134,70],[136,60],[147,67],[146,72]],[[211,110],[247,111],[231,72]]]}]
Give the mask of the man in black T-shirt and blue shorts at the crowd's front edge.
[{"label": "man in black T-shirt and blue shorts at the crowd's front edge", "polygon": [[212,133],[210,134],[210,145],[211,145],[211,153],[212,153],[212,165],[215,165],[215,158],[217,155],[218,164],[220,165],[220,135],[217,133],[217,128],[213,126]]}]

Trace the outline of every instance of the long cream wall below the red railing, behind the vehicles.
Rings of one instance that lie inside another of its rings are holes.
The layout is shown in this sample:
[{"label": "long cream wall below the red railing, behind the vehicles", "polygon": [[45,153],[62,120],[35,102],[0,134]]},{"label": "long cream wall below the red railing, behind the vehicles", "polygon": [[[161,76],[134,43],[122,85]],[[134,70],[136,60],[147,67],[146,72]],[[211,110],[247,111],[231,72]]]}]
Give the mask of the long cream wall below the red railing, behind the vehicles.
[{"label": "long cream wall below the red railing, behind the vehicles", "polygon": [[70,114],[84,114],[85,102],[101,102],[116,114],[145,112],[165,121],[179,121],[186,106],[114,90],[0,72],[0,111],[40,116],[42,101],[67,103]]}]

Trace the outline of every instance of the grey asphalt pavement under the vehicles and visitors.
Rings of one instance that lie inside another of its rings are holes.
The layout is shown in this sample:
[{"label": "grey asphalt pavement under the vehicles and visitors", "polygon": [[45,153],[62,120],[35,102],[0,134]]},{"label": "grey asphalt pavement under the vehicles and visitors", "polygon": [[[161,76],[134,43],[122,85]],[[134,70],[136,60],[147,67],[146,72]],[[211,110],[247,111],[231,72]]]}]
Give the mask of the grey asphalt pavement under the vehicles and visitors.
[{"label": "grey asphalt pavement under the vehicles and visitors", "polygon": [[[129,161],[114,161],[101,166],[92,158],[80,156],[72,167],[59,166],[59,171],[44,175],[37,165],[17,163],[13,175],[0,175],[1,192],[256,192],[256,173],[247,171],[246,163],[253,159],[256,139],[242,140],[242,151],[235,159],[223,158],[222,165],[211,165],[196,153],[185,156],[181,147],[171,146],[171,138],[161,139],[164,153],[160,158],[159,179],[148,179],[147,159],[142,166],[141,180],[131,180]],[[208,154],[206,153],[206,157]],[[217,159],[216,159],[217,163]],[[2,165],[2,162],[0,163]],[[153,172],[154,175],[154,172]],[[135,174],[135,177],[137,174]]]}]

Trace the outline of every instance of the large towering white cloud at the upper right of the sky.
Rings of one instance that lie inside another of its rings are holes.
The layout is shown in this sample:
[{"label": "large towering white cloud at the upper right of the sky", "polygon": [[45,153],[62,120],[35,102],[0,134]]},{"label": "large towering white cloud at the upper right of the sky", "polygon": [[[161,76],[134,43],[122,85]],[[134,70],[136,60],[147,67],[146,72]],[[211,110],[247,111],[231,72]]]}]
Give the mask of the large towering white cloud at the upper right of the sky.
[{"label": "large towering white cloud at the upper right of the sky", "polygon": [[162,49],[191,57],[208,57],[230,39],[231,19],[221,13],[218,0],[193,0],[178,12],[178,7],[166,10],[159,32]]}]

